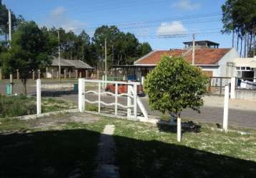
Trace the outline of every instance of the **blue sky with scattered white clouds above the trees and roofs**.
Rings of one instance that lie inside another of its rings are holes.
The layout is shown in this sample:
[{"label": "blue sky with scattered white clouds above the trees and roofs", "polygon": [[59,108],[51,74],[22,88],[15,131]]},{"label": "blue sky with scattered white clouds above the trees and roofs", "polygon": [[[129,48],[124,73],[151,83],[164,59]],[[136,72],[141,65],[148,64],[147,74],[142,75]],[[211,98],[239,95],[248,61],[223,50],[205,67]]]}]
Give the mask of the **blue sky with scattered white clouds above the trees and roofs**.
[{"label": "blue sky with scattered white clouds above the trees and roofs", "polygon": [[3,4],[39,26],[62,27],[93,36],[95,28],[117,25],[134,33],[154,50],[183,48],[184,41],[209,40],[230,48],[232,36],[220,33],[225,0],[2,0]]}]

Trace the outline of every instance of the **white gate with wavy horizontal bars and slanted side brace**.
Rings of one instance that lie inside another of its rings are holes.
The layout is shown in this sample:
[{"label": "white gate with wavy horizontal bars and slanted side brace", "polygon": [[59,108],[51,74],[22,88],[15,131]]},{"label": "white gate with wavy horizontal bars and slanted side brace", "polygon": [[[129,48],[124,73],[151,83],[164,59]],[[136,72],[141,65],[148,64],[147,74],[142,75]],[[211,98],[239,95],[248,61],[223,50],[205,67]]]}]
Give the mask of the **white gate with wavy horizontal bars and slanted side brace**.
[{"label": "white gate with wavy horizontal bars and slanted side brace", "polygon": [[[85,91],[86,85],[85,83],[98,83],[98,90],[88,90]],[[106,86],[107,84],[114,84],[114,93],[111,93],[109,91],[103,91],[102,86]],[[78,99],[78,105],[79,105],[79,111],[84,112],[85,110],[85,103],[91,103],[91,104],[98,104],[98,112],[97,114],[100,115],[106,115],[103,114],[101,111],[102,105],[107,106],[114,106],[114,113],[111,114],[111,116],[118,117],[118,107],[127,109],[127,118],[128,119],[139,119],[139,120],[147,120],[147,110],[144,108],[144,105],[142,104],[142,101],[137,96],[137,86],[140,83],[138,82],[122,82],[122,81],[106,81],[106,80],[85,80],[84,78],[79,78],[79,99]],[[127,85],[127,93],[118,93],[118,85]],[[89,93],[94,93],[98,95],[98,100],[87,100],[86,95]],[[112,95],[114,96],[114,103],[105,103],[102,101],[102,95]],[[119,103],[119,97],[127,96],[127,105],[122,105]],[[138,116],[137,107],[142,111],[143,117]],[[133,111],[133,112],[132,112]]]}]

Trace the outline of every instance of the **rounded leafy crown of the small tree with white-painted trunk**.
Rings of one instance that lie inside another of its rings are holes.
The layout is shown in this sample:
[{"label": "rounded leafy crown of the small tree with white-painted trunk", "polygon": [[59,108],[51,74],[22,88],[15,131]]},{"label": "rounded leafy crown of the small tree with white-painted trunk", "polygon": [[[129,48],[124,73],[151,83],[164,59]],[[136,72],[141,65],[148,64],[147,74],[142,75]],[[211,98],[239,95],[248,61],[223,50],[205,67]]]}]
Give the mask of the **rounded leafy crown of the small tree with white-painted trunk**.
[{"label": "rounded leafy crown of the small tree with white-painted trunk", "polygon": [[144,89],[153,110],[174,113],[184,108],[199,111],[206,93],[207,77],[200,68],[191,66],[182,57],[163,56],[157,67],[147,75]]}]

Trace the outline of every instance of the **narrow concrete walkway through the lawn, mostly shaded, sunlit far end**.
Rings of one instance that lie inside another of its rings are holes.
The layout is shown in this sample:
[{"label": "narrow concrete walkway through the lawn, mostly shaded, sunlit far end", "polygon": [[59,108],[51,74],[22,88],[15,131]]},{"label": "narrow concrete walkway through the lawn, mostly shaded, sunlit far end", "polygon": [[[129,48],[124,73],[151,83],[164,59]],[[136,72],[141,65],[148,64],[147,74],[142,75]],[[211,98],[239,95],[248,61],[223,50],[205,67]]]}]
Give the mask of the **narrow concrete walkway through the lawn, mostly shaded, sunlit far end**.
[{"label": "narrow concrete walkway through the lawn, mostly shaded, sunlit far end", "polygon": [[114,165],[114,125],[106,125],[100,136],[98,155],[96,157],[97,169],[94,172],[95,178],[118,178],[118,167]]}]

